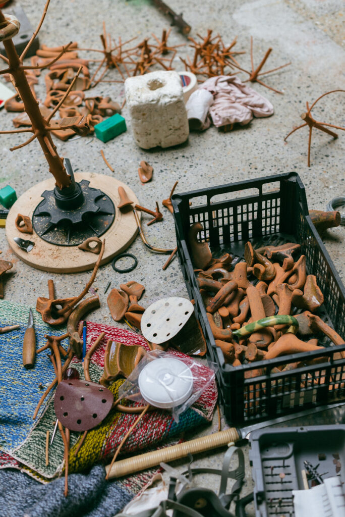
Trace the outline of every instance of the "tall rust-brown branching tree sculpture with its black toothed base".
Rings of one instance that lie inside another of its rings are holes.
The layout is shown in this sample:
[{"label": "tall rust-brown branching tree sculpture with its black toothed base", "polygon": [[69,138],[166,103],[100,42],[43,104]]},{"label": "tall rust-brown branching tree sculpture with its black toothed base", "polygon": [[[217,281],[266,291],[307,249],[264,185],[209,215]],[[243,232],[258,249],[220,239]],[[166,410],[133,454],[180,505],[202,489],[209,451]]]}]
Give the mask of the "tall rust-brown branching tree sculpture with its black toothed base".
[{"label": "tall rust-brown branching tree sculpture with its black toothed base", "polygon": [[[13,36],[19,32],[20,23],[13,16],[3,14],[0,9],[0,41],[3,42],[7,54],[7,57],[3,55],[0,56],[7,64],[5,69],[0,70],[0,75],[10,74],[31,123],[31,126],[25,129],[0,131],[0,133],[28,133],[30,135],[30,138],[26,142],[12,147],[11,150],[24,147],[34,140],[37,140],[40,144],[44,157],[48,162],[49,171],[55,178],[55,189],[52,191],[45,190],[43,192],[42,197],[44,199],[34,210],[34,229],[44,240],[52,242],[53,244],[61,244],[60,232],[54,230],[62,225],[64,227],[64,245],[66,245],[67,242],[67,245],[74,246],[83,242],[85,238],[95,235],[95,233],[97,235],[104,233],[113,223],[115,209],[106,194],[99,189],[89,187],[89,181],[82,180],[80,183],[75,182],[70,163],[65,160],[66,167],[69,169],[67,173],[64,159],[58,155],[56,146],[52,140],[51,131],[66,130],[69,127],[76,128],[75,120],[72,121],[71,126],[67,123],[64,124],[64,127],[59,128],[55,124],[54,126],[51,125],[51,119],[65,102],[73,88],[77,76],[73,79],[55,108],[46,117],[42,115],[39,104],[28,82],[28,70],[37,71],[51,66],[69,49],[72,43],[67,44],[66,47],[62,47],[61,52],[51,59],[50,63],[36,66],[23,65],[23,59],[44,21],[49,2],[50,0],[46,2],[38,27],[20,56],[17,54],[12,41]],[[78,73],[80,73],[82,68],[83,66],[81,65]],[[85,124],[83,117],[79,122],[80,124],[77,124],[77,126],[80,126],[84,134],[85,131],[88,131],[88,125]],[[104,219],[105,215],[107,217]],[[97,224],[97,221],[100,219],[103,223],[101,225]],[[81,229],[82,221],[84,221],[83,230]],[[91,224],[90,226],[89,223]]]}]

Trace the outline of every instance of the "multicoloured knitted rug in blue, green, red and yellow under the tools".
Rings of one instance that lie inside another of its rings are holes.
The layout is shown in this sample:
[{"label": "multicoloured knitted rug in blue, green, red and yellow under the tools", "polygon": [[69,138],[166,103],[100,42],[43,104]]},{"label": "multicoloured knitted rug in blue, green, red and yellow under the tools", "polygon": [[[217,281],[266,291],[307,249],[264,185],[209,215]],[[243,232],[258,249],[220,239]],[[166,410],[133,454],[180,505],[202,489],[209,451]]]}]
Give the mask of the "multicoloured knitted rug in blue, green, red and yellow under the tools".
[{"label": "multicoloured knitted rug in blue, green, red and yellow under the tools", "polygon": [[[0,307],[3,305],[1,302]],[[10,304],[9,311],[13,310],[14,304]],[[25,313],[24,308],[16,308],[17,313],[20,314]],[[28,313],[28,309],[26,309],[26,314]],[[3,315],[6,315],[6,308],[2,307]],[[9,314],[7,313],[7,317]],[[24,318],[25,319],[25,318]],[[40,326],[38,319],[36,317],[36,332],[38,327]],[[10,323],[15,323],[14,318]],[[8,320],[6,320],[6,325],[9,324]],[[26,325],[25,325],[26,326]],[[25,329],[24,329],[25,330]],[[116,327],[111,327],[108,325],[101,325],[96,323],[87,323],[87,341],[88,347],[90,343],[95,341],[95,339],[99,336],[99,334],[104,331],[105,338],[103,339],[101,345],[97,349],[97,351],[92,355],[90,362],[90,376],[92,381],[99,381],[99,378],[103,372],[104,366],[104,351],[105,345],[108,339],[112,339],[114,341],[120,341],[126,345],[138,344],[145,348],[147,348],[147,343],[145,339],[136,332],[131,332],[123,329],[119,329]],[[63,333],[64,329],[60,329],[59,333]],[[42,335],[47,333],[47,330],[42,332]],[[49,333],[58,333],[56,329],[49,329]],[[6,334],[0,334],[0,349],[3,347],[2,339],[6,336]],[[42,346],[44,344],[43,339],[40,336],[37,336],[38,346]],[[14,337],[13,337],[14,338]],[[15,370],[20,369],[21,366],[21,347],[22,347],[22,339],[14,338],[11,340],[11,349],[12,349],[12,357],[17,357],[17,367],[16,368],[8,368],[8,377],[6,382],[4,383],[4,395],[6,396],[6,386],[14,383],[17,385],[17,389],[15,390],[16,397],[18,399],[26,399],[26,392],[29,391],[30,396],[30,410],[26,410],[26,419],[25,425],[22,424],[21,427],[21,440],[17,439],[17,435],[13,432],[15,426],[13,425],[13,421],[17,418],[18,427],[20,427],[19,423],[21,423],[21,413],[19,410],[18,402],[15,402],[15,397],[13,393],[13,397],[11,399],[11,404],[7,401],[4,406],[2,404],[2,425],[3,428],[1,430],[3,438],[2,455],[0,455],[0,467],[4,468],[6,466],[19,467],[19,465],[14,464],[13,462],[17,460],[20,463],[20,467],[30,475],[36,477],[36,479],[40,479],[42,482],[49,481],[56,477],[61,473],[63,468],[63,456],[64,456],[64,447],[62,443],[62,439],[59,433],[56,433],[53,444],[49,448],[49,465],[45,465],[45,439],[46,439],[46,431],[50,431],[50,435],[52,435],[56,416],[54,412],[53,406],[53,394],[50,400],[46,401],[43,405],[42,412],[40,417],[37,419],[35,424],[31,429],[29,429],[29,417],[32,416],[34,409],[38,400],[41,397],[41,391],[38,389],[35,391],[36,386],[40,382],[42,382],[41,369],[44,370],[44,374],[46,377],[44,379],[44,387],[46,387],[52,379],[54,378],[53,368],[49,360],[49,364],[46,365],[44,362],[37,362],[35,369],[30,370],[28,372],[23,372],[23,375],[30,374],[35,372],[35,382],[30,382],[30,379],[27,379],[28,385],[26,384],[18,384],[18,372]],[[171,351],[176,354],[177,357],[183,357],[183,354],[177,351]],[[44,354],[44,353],[43,353]],[[19,359],[18,359],[19,357]],[[5,360],[5,356],[2,356],[2,361]],[[0,369],[3,368],[3,362],[0,361]],[[47,360],[48,362],[48,360]],[[81,374],[81,378],[83,378],[83,368],[81,361],[77,359],[73,360],[73,366],[79,370]],[[48,368],[49,367],[49,368]],[[24,370],[23,367],[21,367]],[[205,367],[207,368],[207,367]],[[47,369],[48,371],[45,371]],[[37,382],[37,385],[35,384]],[[111,390],[114,393],[115,399],[117,398],[118,388],[123,382],[123,379],[113,383],[111,385]],[[42,382],[43,384],[43,382]],[[28,387],[27,387],[28,386]],[[37,394],[36,394],[37,393]],[[142,420],[140,420],[139,424],[131,433],[127,442],[124,444],[121,453],[128,454],[134,453],[135,451],[146,449],[147,447],[156,446],[156,444],[160,444],[162,442],[167,442],[173,439],[174,437],[180,437],[181,433],[187,430],[191,430],[193,428],[199,428],[200,425],[205,425],[212,420],[213,410],[217,399],[217,389],[215,383],[211,385],[205,392],[203,392],[200,399],[190,408],[187,409],[181,416],[179,423],[176,423],[171,414],[168,411],[155,409],[152,412],[147,413]],[[23,404],[25,405],[25,404]],[[22,403],[20,403],[20,407],[22,407]],[[13,418],[13,413],[17,415]],[[98,425],[97,428],[90,430],[87,435],[85,442],[80,449],[80,452],[75,457],[74,452],[76,450],[77,440],[80,438],[80,433],[71,433],[71,451],[70,451],[70,461],[69,461],[69,472],[82,472],[86,468],[90,468],[96,462],[101,460],[109,461],[112,455],[114,454],[116,448],[120,444],[123,436],[127,433],[128,429],[134,423],[137,415],[132,415],[128,413],[120,413],[120,412],[111,412],[106,419]],[[10,429],[11,440],[5,438],[7,435],[7,427]],[[26,432],[26,436],[25,435]],[[24,436],[24,439],[23,439]],[[6,458],[5,454],[8,455]]]}]

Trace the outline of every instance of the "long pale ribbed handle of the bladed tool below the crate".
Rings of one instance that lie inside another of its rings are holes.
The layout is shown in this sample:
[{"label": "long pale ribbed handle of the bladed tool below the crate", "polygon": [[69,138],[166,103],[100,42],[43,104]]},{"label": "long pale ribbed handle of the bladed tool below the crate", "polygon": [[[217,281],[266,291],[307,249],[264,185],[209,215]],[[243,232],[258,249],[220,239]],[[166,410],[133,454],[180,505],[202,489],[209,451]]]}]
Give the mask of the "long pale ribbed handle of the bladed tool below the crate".
[{"label": "long pale ribbed handle of the bladed tool below the crate", "polygon": [[215,449],[227,445],[229,442],[236,443],[240,439],[242,439],[242,437],[238,430],[236,428],[230,428],[225,431],[219,431],[218,433],[196,438],[195,440],[190,440],[189,442],[172,445],[171,447],[147,452],[145,454],[139,454],[127,460],[117,461],[112,467],[107,465],[105,470],[109,479],[128,476],[139,470],[145,470],[159,465],[162,461],[167,463],[169,461],[178,460],[189,453],[195,454],[197,452]]}]

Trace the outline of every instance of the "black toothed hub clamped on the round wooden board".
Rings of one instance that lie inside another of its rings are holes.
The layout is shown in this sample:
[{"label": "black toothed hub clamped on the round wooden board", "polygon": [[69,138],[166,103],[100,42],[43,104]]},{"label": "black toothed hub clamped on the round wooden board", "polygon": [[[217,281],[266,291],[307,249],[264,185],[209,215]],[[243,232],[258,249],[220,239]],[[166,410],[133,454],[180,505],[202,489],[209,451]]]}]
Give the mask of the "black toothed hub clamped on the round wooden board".
[{"label": "black toothed hub clamped on the round wooden board", "polygon": [[44,198],[35,208],[33,226],[45,241],[57,246],[77,246],[89,237],[99,237],[108,230],[115,218],[111,198],[100,189],[89,187],[83,179],[75,183],[69,160],[65,160],[71,175],[71,187],[45,190]]}]

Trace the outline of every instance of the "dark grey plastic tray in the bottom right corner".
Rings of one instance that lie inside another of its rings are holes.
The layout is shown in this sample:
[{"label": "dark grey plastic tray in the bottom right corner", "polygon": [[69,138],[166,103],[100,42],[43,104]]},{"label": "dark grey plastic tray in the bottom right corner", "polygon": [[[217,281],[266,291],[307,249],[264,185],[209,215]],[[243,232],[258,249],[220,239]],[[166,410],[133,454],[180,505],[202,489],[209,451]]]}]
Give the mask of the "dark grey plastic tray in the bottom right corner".
[{"label": "dark grey plastic tray in the bottom right corner", "polygon": [[256,517],[293,517],[292,490],[304,489],[305,460],[313,467],[319,465],[318,473],[326,473],[323,479],[339,475],[345,482],[345,425],[254,431],[250,434],[249,460]]}]

